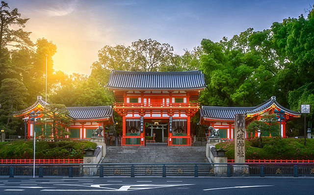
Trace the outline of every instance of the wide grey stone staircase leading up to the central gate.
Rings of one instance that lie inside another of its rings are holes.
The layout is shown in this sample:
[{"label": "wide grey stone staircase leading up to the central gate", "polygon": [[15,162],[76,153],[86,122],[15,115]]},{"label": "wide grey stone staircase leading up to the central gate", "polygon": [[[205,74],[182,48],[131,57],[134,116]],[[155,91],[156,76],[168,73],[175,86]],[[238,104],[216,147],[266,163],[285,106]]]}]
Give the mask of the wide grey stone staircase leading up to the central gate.
[{"label": "wide grey stone staircase leading up to the central gate", "polygon": [[[107,146],[102,164],[134,164],[135,176],[162,176],[164,163],[167,176],[194,176],[195,164],[209,163],[205,146]],[[141,165],[136,165],[140,163]],[[160,165],[147,165],[155,163]],[[182,165],[178,163],[189,163]],[[200,175],[208,173],[210,165],[198,165]],[[105,165],[104,175],[131,176],[131,165]]]}]

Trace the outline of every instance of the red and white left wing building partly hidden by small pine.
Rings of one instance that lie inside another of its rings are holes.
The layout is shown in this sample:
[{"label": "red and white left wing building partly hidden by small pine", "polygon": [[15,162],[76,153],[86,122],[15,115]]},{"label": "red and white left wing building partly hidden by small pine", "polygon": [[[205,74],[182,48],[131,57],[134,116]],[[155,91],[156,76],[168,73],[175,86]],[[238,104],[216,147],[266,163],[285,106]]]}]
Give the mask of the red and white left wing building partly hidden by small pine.
[{"label": "red and white left wing building partly hidden by small pine", "polygon": [[[41,96],[37,97],[35,103],[24,110],[17,111],[15,117],[30,119],[30,113],[34,111],[43,111],[45,106],[49,102],[45,102]],[[69,110],[70,125],[64,126],[66,131],[70,132],[65,138],[69,139],[89,139],[92,137],[93,130],[97,127],[106,124],[113,123],[113,109],[111,106],[88,106],[88,107],[67,107]],[[42,117],[42,114],[36,116],[35,118]],[[46,137],[52,138],[51,124],[47,122],[46,129],[43,122],[35,122],[35,125],[30,120],[27,120],[27,138],[33,137],[33,130],[35,131],[35,136],[37,138]],[[48,128],[47,128],[48,126]],[[48,130],[47,130],[48,129]],[[104,131],[102,132],[104,133]]]}]

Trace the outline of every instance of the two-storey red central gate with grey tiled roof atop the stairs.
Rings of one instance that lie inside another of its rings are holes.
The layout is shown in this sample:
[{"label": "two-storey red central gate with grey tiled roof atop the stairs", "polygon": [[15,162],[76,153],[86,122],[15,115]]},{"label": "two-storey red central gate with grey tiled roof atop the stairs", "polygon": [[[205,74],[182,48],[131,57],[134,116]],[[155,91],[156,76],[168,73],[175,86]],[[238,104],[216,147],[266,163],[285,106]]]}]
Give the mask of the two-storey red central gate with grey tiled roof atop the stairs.
[{"label": "two-storey red central gate with grey tiled roof atop the stairs", "polygon": [[191,117],[206,87],[201,71],[113,71],[107,88],[123,119],[122,146],[144,146],[145,136],[169,146],[191,146]]}]

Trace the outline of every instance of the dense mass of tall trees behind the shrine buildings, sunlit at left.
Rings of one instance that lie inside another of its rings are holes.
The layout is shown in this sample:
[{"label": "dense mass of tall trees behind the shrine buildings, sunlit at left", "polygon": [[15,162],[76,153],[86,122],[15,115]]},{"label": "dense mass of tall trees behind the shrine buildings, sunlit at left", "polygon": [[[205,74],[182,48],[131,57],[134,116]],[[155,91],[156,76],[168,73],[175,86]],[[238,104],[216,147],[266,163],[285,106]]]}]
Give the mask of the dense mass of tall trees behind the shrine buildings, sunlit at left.
[{"label": "dense mass of tall trees behind the shrine buildings, sunlit at left", "polygon": [[[23,31],[28,19],[21,18],[17,8],[10,11],[8,4],[1,2],[0,16],[0,26],[7,32],[0,34],[0,128],[9,133],[23,126],[11,113],[45,94],[46,54],[48,100],[66,106],[111,105],[113,93],[105,85],[112,70],[202,70],[207,83],[199,99],[203,105],[256,106],[276,96],[292,110],[298,111],[301,103],[314,107],[314,9],[307,17],[274,22],[262,31],[248,28],[231,39],[200,40],[200,46],[185,50],[183,55],[175,54],[169,44],[152,39],[134,41],[129,47],[104,46],[89,76],[55,71],[52,56],[56,45],[45,38],[32,43],[30,32]],[[16,49],[9,49],[12,44]],[[10,86],[16,90],[8,90]],[[313,113],[308,115],[310,121]],[[116,116],[116,120],[121,118]],[[193,119],[195,124],[198,121]],[[291,132],[302,128],[297,122],[287,127]]]}]

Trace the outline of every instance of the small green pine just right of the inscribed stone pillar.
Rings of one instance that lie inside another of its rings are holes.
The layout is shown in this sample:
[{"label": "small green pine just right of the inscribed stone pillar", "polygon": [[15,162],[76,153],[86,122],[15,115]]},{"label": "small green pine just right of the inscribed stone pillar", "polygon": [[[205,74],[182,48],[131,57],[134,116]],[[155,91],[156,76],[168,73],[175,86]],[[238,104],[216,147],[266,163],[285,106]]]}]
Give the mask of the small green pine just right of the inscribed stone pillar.
[{"label": "small green pine just right of the inscribed stone pillar", "polygon": [[253,133],[253,135],[255,134],[255,132],[260,133],[260,147],[262,146],[262,136],[269,136],[270,134],[272,136],[279,136],[280,125],[278,123],[278,118],[276,117],[276,114],[264,115],[262,116],[261,120],[250,122],[250,124],[247,126],[247,132]]}]

